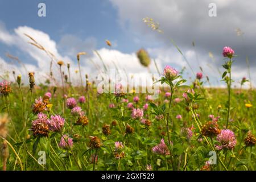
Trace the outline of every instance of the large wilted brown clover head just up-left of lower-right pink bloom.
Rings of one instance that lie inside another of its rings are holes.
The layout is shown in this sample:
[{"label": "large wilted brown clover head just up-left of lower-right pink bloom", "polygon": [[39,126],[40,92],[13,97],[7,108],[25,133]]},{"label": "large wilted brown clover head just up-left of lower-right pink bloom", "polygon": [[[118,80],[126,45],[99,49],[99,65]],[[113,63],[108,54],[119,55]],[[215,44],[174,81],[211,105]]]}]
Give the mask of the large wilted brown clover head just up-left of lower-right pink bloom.
[{"label": "large wilted brown clover head just up-left of lower-right pink bloom", "polygon": [[205,137],[215,137],[220,134],[220,129],[218,127],[218,123],[216,121],[208,121],[202,127],[202,134]]}]

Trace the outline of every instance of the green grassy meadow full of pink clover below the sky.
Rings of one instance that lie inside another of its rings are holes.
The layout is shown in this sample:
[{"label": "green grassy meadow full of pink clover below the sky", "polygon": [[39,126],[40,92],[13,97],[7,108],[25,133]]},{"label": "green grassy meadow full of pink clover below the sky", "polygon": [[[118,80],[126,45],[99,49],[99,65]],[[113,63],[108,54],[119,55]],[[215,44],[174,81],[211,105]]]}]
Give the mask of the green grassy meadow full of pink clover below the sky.
[{"label": "green grassy meadow full of pink clover below the sky", "polygon": [[[77,54],[78,62],[84,54]],[[51,78],[60,75],[58,86],[51,79],[36,85],[33,72],[14,73],[15,82],[2,77],[0,168],[254,170],[256,92],[243,89],[246,78],[240,89],[232,88],[235,54],[230,47],[222,54],[220,80],[226,88],[205,87],[208,78],[201,72],[188,84],[182,72],[166,65],[155,80],[162,84],[156,100],[135,90],[127,93],[122,84],[114,93],[100,94],[88,75],[80,74],[77,86],[70,81],[73,73],[62,72],[71,66],[63,61],[53,62],[60,70],[51,73]],[[137,56],[144,67],[150,64],[144,49]]]}]

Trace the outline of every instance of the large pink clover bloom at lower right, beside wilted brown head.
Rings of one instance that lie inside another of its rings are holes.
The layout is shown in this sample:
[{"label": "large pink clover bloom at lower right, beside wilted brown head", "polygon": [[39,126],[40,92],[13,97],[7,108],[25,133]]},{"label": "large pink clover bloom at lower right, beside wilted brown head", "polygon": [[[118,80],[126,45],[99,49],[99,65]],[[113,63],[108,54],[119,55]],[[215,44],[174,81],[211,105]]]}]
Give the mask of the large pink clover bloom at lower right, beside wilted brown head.
[{"label": "large pink clover bloom at lower right, beside wilted brown head", "polygon": [[221,130],[221,133],[217,135],[217,141],[221,143],[220,146],[216,145],[218,150],[232,150],[237,144],[236,136],[229,129]]}]

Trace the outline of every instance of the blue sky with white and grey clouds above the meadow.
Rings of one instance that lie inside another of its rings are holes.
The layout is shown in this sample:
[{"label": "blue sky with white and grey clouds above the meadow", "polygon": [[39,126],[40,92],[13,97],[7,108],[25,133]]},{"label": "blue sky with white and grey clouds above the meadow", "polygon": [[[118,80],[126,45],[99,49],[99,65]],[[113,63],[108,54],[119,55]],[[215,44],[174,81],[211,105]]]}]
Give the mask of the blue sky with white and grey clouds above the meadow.
[{"label": "blue sky with white and grey clouds above the meadow", "polygon": [[[40,2],[46,4],[46,17],[38,16]],[[217,16],[209,16],[209,3],[216,4]],[[147,27],[142,20],[146,17],[158,22],[163,32]],[[242,77],[249,77],[247,55],[255,85],[255,17],[253,0],[0,0],[0,74],[14,70],[25,76],[27,69],[36,72],[38,81],[48,77],[50,59],[28,44],[30,40],[24,36],[28,34],[58,60],[71,63],[73,80],[77,79],[76,54],[81,51],[88,53],[81,57],[82,75],[88,73],[94,78],[97,68],[102,68],[94,50],[109,68],[114,68],[115,64],[127,73],[147,73],[135,56],[139,48],[147,49],[161,70],[167,64],[178,70],[186,67],[184,77],[193,79],[184,57],[170,42],[173,39],[193,71],[199,72],[202,67],[214,86],[224,85],[218,73],[218,69],[224,71],[221,68],[224,46],[232,47],[238,55],[233,65],[236,84]],[[237,28],[242,36],[237,35]],[[112,48],[105,44],[106,39],[112,42]],[[209,57],[209,52],[214,58]],[[19,57],[26,69],[7,57],[7,53]],[[56,65],[53,67],[57,69]],[[153,63],[150,70],[156,73]]]}]

